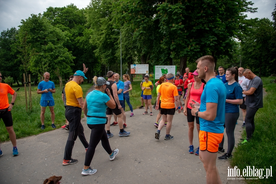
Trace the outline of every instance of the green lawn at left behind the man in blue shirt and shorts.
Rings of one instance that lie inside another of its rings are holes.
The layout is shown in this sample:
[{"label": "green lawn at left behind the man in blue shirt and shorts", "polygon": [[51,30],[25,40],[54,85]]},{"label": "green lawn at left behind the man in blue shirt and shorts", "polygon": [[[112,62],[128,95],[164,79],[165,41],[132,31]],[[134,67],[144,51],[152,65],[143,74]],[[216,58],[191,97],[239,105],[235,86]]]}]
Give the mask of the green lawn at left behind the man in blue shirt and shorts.
[{"label": "green lawn at left behind the man in blue shirt and shorts", "polygon": [[[83,96],[86,96],[87,90],[92,86],[92,84],[81,84]],[[16,90],[18,87],[13,87]],[[13,116],[13,129],[15,131],[17,139],[27,137],[30,135],[37,135],[42,132],[53,130],[51,127],[51,113],[49,108],[46,108],[45,112],[45,130],[41,130],[41,121],[40,121],[40,97],[36,93],[37,86],[32,86],[32,110],[26,112],[25,105],[25,91],[24,87],[20,87],[20,90],[17,92],[17,98],[15,105],[12,109]],[[9,96],[9,102],[11,101],[12,96]],[[56,85],[56,93],[53,93],[55,99],[55,125],[57,128],[60,128],[65,123],[65,108],[61,98],[61,91],[59,85]],[[9,134],[6,131],[5,124],[3,120],[0,121],[0,139],[1,141],[9,140]]]}]

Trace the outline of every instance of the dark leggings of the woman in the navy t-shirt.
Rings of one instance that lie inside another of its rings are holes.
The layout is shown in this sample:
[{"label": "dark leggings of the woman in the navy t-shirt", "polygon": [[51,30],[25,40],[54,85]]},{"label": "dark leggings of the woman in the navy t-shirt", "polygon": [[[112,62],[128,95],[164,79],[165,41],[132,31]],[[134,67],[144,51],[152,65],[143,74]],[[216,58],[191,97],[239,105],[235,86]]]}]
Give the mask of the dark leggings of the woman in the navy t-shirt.
[{"label": "dark leggings of the woman in the navy t-shirt", "polygon": [[[225,113],[225,131],[227,135],[227,142],[228,142],[228,148],[227,148],[227,153],[232,154],[232,151],[235,147],[235,136],[234,136],[234,131],[236,127],[236,122],[239,119],[240,112],[235,112],[235,113]],[[219,144],[219,147],[223,147],[224,144],[224,135],[222,138],[221,143]]]}]

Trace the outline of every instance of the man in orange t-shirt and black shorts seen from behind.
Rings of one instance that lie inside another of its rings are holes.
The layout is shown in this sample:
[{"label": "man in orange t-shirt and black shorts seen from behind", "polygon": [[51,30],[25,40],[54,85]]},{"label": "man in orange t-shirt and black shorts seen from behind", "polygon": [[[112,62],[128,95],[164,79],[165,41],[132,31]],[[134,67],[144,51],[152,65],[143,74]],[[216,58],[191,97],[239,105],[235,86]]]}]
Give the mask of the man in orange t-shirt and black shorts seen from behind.
[{"label": "man in orange t-shirt and black shorts seen from behind", "polygon": [[165,82],[160,85],[160,88],[158,89],[157,94],[157,100],[156,100],[156,106],[155,109],[159,109],[159,100],[160,96],[162,95],[162,103],[161,103],[161,110],[160,113],[162,115],[162,120],[159,123],[158,130],[155,133],[155,139],[159,139],[160,137],[160,131],[164,127],[165,122],[167,122],[166,126],[166,136],[165,140],[173,139],[174,137],[170,135],[171,131],[171,124],[172,119],[174,117],[174,102],[178,107],[178,113],[181,112],[180,102],[178,99],[178,91],[174,83],[174,74],[169,73],[167,74],[167,80],[168,82]]}]

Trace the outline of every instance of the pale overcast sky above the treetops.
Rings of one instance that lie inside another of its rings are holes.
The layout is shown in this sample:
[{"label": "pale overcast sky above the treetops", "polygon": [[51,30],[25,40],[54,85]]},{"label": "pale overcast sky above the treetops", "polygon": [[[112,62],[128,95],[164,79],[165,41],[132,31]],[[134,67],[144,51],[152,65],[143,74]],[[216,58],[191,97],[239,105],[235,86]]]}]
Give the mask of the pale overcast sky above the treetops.
[{"label": "pale overcast sky above the treetops", "polygon": [[[253,8],[258,8],[258,13],[248,14],[248,18],[269,18],[274,10],[275,0],[251,0]],[[0,0],[0,32],[7,28],[21,25],[21,19],[26,19],[31,14],[43,14],[46,8],[63,7],[73,3],[79,9],[85,8],[90,0]]]}]

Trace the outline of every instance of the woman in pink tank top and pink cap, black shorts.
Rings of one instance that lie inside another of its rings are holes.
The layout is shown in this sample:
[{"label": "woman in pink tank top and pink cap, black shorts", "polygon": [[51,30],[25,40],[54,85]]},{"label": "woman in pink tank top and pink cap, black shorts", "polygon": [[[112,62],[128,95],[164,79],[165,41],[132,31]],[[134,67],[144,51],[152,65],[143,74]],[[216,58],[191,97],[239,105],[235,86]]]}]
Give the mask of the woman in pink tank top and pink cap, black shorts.
[{"label": "woman in pink tank top and pink cap, black shorts", "polygon": [[[203,92],[204,83],[201,82],[201,79],[198,78],[198,73],[194,71],[194,82],[188,84],[188,92],[184,106],[184,115],[187,116],[187,121],[189,125],[188,137],[189,137],[189,153],[194,153],[194,145],[193,145],[193,137],[194,137],[194,118],[196,118],[197,125],[197,137],[199,135],[199,118],[197,116],[193,116],[191,113],[192,107],[190,106],[190,102],[192,99],[200,103],[200,97]],[[198,142],[199,143],[199,142]],[[199,155],[199,147],[197,147],[195,155]]]}]

